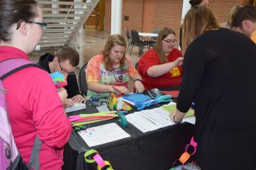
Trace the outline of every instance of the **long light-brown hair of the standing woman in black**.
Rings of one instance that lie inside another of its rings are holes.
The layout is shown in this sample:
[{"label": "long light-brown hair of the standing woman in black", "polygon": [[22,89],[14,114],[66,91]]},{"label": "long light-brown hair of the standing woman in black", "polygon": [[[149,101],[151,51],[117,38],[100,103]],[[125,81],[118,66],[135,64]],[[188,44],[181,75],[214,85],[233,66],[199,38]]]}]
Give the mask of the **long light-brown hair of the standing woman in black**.
[{"label": "long light-brown hair of the standing woman in black", "polygon": [[185,53],[188,45],[199,35],[218,28],[220,28],[218,19],[209,8],[205,6],[191,7],[183,22],[182,52]]}]

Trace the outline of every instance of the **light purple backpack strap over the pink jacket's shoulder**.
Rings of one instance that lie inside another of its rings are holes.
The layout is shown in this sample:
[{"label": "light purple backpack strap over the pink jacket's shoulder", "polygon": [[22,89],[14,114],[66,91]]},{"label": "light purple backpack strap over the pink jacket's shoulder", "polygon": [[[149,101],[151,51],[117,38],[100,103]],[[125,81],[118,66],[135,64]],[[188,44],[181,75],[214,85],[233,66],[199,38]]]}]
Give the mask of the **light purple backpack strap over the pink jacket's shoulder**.
[{"label": "light purple backpack strap over the pink jacket's shoulder", "polygon": [[31,67],[31,66],[42,69],[40,65],[22,58],[10,58],[5,61],[1,61],[0,62],[0,68],[1,68],[0,79],[3,80],[6,77],[10,76],[12,73],[16,73],[21,69],[25,69],[26,67]]}]

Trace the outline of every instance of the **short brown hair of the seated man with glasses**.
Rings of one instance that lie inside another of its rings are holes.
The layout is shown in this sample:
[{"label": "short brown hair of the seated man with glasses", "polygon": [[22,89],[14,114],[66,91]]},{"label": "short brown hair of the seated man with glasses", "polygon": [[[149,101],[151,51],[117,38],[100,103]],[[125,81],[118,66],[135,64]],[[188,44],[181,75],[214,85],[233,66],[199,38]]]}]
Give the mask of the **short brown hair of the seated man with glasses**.
[{"label": "short brown hair of the seated man with glasses", "polygon": [[79,53],[78,53],[78,51],[75,50],[75,49],[72,49],[69,46],[62,47],[61,49],[58,49],[55,56],[58,57],[58,61],[69,60],[70,64],[73,67],[76,67],[79,64]]}]

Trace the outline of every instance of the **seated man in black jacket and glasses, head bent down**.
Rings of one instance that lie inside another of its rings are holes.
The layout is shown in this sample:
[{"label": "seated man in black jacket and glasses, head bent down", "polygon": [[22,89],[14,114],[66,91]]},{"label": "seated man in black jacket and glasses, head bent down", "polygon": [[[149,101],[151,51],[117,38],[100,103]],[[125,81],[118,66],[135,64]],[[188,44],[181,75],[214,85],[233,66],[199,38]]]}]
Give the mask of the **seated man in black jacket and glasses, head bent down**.
[{"label": "seated man in black jacket and glasses, head bent down", "polygon": [[68,98],[64,102],[66,108],[73,106],[74,103],[85,101],[79,91],[77,77],[74,73],[79,64],[79,54],[75,49],[62,47],[55,55],[45,53],[39,58],[38,64],[48,73],[59,72],[67,76],[67,85],[64,86],[68,93]]}]

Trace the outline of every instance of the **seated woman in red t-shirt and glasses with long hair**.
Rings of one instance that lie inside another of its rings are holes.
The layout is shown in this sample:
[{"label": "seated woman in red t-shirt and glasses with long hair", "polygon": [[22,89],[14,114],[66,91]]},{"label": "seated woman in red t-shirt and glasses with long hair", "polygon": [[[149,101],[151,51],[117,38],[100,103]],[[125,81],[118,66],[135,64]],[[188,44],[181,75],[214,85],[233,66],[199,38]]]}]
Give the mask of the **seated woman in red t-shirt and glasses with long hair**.
[{"label": "seated woman in red t-shirt and glasses with long hair", "polygon": [[175,48],[176,43],[174,30],[164,27],[154,47],[138,61],[138,73],[145,89],[181,85],[183,57]]}]

